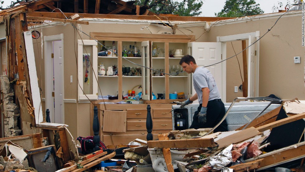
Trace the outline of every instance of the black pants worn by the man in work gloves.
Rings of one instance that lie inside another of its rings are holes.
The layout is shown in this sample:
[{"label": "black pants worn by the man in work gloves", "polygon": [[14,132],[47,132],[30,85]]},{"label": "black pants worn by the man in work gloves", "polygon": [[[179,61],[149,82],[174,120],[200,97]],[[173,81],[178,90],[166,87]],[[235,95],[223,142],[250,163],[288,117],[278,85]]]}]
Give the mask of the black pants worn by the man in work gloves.
[{"label": "black pants worn by the man in work gloves", "polygon": [[[193,122],[190,128],[213,128],[221,121],[226,113],[224,104],[221,99],[211,100],[207,105],[207,122],[205,124],[201,124],[198,122],[198,114],[201,110],[201,107],[202,104],[199,105],[197,111],[194,113]],[[217,128],[215,128],[214,132],[218,131],[228,131],[228,124],[226,119]]]}]

